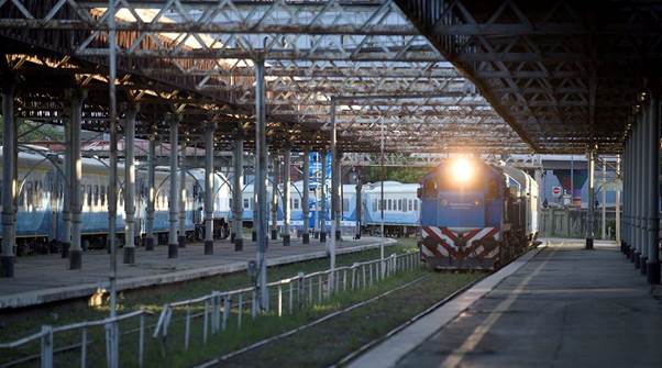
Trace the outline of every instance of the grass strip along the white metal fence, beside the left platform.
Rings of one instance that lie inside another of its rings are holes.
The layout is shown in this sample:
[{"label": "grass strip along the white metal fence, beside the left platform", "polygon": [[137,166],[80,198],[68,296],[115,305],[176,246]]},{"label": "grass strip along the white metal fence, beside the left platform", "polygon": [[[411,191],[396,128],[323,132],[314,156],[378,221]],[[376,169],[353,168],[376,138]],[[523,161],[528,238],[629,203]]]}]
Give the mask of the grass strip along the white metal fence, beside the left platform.
[{"label": "grass strip along the white metal fence, beside the left platform", "polygon": [[[411,250],[412,248],[416,248],[416,241],[404,239],[399,242],[398,245],[387,247],[386,254],[399,254]],[[336,258],[336,264],[339,266],[351,265],[355,261],[375,259],[378,256],[378,249],[340,255]],[[275,280],[293,277],[301,271],[308,274],[327,268],[328,259],[322,258],[305,263],[269,267],[268,277],[271,280]],[[388,282],[391,281],[387,280],[373,289],[380,290],[379,288],[388,285]],[[295,316],[288,316],[287,319],[277,317],[274,315],[266,315],[251,321],[249,317],[245,317],[244,325],[242,326],[241,331],[233,331],[232,328],[236,330],[236,326],[230,325],[223,334],[214,335],[213,337],[210,335],[210,339],[206,346],[202,346],[201,344],[201,326],[199,327],[199,331],[195,330],[198,327],[191,326],[191,336],[200,336],[200,341],[192,338],[190,342],[191,352],[195,350],[196,353],[187,352],[187,354],[177,354],[176,356],[168,356],[166,358],[167,360],[163,360],[163,358],[161,358],[161,346],[159,344],[155,344],[152,341],[151,333],[153,332],[153,324],[156,323],[156,319],[158,316],[158,313],[161,312],[163,304],[177,300],[200,297],[209,293],[211,290],[232,290],[246,286],[250,286],[250,281],[246,274],[236,272],[210,277],[206,279],[191,280],[176,285],[162,286],[157,288],[131,290],[122,292],[120,294],[120,313],[137,310],[140,308],[146,308],[147,310],[153,311],[155,313],[154,316],[147,317],[145,321],[146,325],[148,326],[146,328],[147,337],[145,361],[148,365],[154,364],[156,361],[161,361],[162,364],[159,365],[167,363],[167,365],[170,366],[184,366],[190,365],[190,363],[192,363],[195,359],[198,359],[202,356],[218,355],[220,352],[219,346],[222,346],[223,348],[228,349],[235,349],[239,346],[246,345],[252,341],[261,338],[261,336],[268,336],[269,334],[274,334],[277,331],[284,331],[283,328],[287,330],[290,326],[299,325],[302,323],[302,321],[308,321],[311,317],[317,317],[318,315],[321,315],[320,313],[328,313],[335,305],[331,304],[326,305],[323,308],[308,306],[305,311],[302,311],[302,313],[296,314]],[[343,297],[339,295],[338,298]],[[352,298],[363,297],[356,295]],[[342,299],[334,301],[334,303],[341,302]],[[194,311],[194,313],[196,311]],[[73,322],[102,319],[108,315],[108,308],[107,305],[91,308],[87,305],[86,301],[79,300],[51,304],[30,310],[3,311],[1,313],[2,314],[0,314],[0,342],[8,342],[37,332],[41,328],[41,325],[43,324],[64,325]],[[178,313],[184,312],[178,311]],[[176,313],[174,317],[180,317],[181,315],[177,315],[178,313]],[[201,323],[196,324],[200,325]],[[173,325],[174,327],[170,331],[172,336],[181,332],[177,331],[178,325],[181,325],[180,327],[183,328],[183,323],[174,323]],[[121,339],[122,360],[125,361],[129,366],[132,365],[131,361],[135,363],[134,357],[137,355],[137,350],[135,347],[137,335],[135,333],[136,328],[137,322],[135,320],[122,323],[120,325],[120,330],[122,332],[132,332],[128,335],[122,336]],[[100,360],[104,357],[103,327],[96,327],[88,331],[88,338],[91,341],[88,348],[88,364],[103,361]],[[212,339],[214,338],[218,338],[219,341],[212,342]],[[79,333],[58,334],[55,338],[55,347],[62,348],[63,346],[75,345],[79,341]],[[166,344],[170,344],[170,342],[166,342]],[[0,354],[0,364],[11,361],[20,357],[29,356],[34,353],[38,353],[38,342],[36,344],[31,344],[26,346],[24,349],[3,350],[2,354]],[[56,355],[55,363],[67,365],[74,364],[74,361],[77,361],[77,359],[78,349],[75,349],[75,352],[71,354]],[[34,361],[34,364],[36,365],[38,363]]]}]

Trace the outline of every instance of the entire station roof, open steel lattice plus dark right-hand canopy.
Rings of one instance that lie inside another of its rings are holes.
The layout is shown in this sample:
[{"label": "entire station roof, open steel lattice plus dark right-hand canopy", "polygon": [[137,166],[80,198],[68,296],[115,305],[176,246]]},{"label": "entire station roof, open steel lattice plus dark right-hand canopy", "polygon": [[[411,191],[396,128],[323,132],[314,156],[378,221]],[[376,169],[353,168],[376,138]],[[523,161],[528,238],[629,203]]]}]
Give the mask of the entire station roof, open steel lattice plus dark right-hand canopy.
[{"label": "entire station roof, open steel lattice plus dark right-hand canopy", "polygon": [[[21,116],[60,123],[88,90],[84,127],[108,129],[109,19],[121,104],[167,141],[166,112],[199,145],[254,140],[265,63],[267,143],[343,152],[617,153],[660,85],[658,1],[0,0],[2,79]],[[333,102],[334,101],[334,102]]]}]

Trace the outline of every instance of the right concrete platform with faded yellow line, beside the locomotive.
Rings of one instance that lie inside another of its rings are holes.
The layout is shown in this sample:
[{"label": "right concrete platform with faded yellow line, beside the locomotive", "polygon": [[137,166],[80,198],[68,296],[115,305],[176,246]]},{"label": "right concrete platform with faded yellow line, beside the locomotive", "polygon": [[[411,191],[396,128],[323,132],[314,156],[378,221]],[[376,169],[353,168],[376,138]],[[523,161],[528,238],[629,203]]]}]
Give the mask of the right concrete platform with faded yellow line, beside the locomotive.
[{"label": "right concrete platform with faded yellow line, beside the locomotive", "polygon": [[353,366],[662,367],[659,288],[614,243],[547,244]]}]

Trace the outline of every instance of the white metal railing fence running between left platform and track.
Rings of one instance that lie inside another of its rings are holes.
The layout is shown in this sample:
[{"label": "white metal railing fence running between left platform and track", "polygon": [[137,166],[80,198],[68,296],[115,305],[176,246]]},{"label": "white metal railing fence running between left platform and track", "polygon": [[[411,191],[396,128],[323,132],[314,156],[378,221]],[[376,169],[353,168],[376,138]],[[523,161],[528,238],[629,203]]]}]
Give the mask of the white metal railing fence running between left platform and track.
[{"label": "white metal railing fence running between left platform and track", "polygon": [[[269,301],[264,313],[260,313],[257,308],[256,288],[249,287],[231,291],[212,291],[200,298],[167,303],[163,305],[157,320],[154,320],[153,313],[141,309],[98,321],[63,326],[44,325],[35,334],[0,344],[0,353],[21,347],[36,350],[38,347],[38,353],[9,363],[0,363],[0,367],[18,366],[37,359],[43,368],[54,365],[75,366],[76,363],[80,367],[86,367],[90,360],[88,352],[91,347],[104,348],[97,354],[104,355],[108,367],[124,365],[143,367],[146,352],[145,334],[148,328],[154,327],[152,337],[157,342],[153,349],[157,349],[159,353],[156,354],[167,358],[175,352],[189,350],[194,339],[206,345],[210,335],[218,335],[230,328],[239,331],[246,319],[258,323],[260,321],[255,319],[264,314],[291,315],[305,308],[323,304],[334,293],[363,290],[396,272],[412,270],[420,265],[419,253],[411,252],[401,255],[393,254],[384,259],[355,263],[333,270],[299,272],[295,277],[267,285]],[[152,322],[148,317],[152,317]],[[97,336],[95,338],[103,338],[104,344],[92,344],[92,333]],[[59,336],[64,344],[58,348],[55,348],[56,336]],[[120,346],[120,342],[124,345]],[[66,357],[56,363],[54,360],[56,355],[66,355]],[[92,365],[98,366],[99,361]]]}]

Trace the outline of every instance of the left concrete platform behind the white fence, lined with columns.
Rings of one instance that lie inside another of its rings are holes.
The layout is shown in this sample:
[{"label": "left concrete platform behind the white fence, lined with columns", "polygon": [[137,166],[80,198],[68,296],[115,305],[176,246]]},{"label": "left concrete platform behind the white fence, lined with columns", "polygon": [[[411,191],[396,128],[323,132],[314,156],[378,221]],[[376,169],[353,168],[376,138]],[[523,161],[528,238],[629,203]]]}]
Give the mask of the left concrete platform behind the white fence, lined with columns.
[{"label": "left concrete platform behind the white fence, lined with columns", "polygon": [[[395,244],[386,239],[386,245]],[[360,252],[379,246],[379,238],[363,237],[358,241],[341,242],[338,254]],[[122,249],[118,252],[118,288],[135,289],[155,285],[191,280],[196,278],[230,274],[246,269],[255,259],[255,243],[244,238],[243,252],[234,252],[230,241],[217,241],[214,253],[205,255],[201,243],[179,248],[179,257],[167,258],[167,246],[157,246],[153,252],[136,249],[135,265],[122,264]],[[282,241],[269,241],[267,265],[283,265],[326,257],[326,245],[311,238],[310,245],[293,239],[290,246]],[[107,288],[110,257],[106,250],[86,253],[82,269],[67,269],[68,260],[59,255],[37,255],[16,258],[13,279],[0,279],[0,310],[21,308],[47,302],[82,298]]]}]

